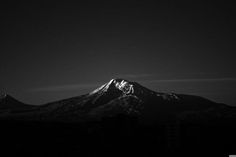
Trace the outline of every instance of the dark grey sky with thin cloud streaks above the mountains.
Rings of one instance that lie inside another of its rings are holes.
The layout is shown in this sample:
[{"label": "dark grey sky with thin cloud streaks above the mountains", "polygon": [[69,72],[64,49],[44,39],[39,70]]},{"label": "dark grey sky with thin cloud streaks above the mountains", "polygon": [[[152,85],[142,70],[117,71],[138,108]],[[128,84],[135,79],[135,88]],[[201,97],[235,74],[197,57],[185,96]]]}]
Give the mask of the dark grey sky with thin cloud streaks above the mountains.
[{"label": "dark grey sky with thin cloud streaks above the mountains", "polygon": [[4,2],[0,91],[43,104],[124,78],[236,105],[234,10],[227,1]]}]

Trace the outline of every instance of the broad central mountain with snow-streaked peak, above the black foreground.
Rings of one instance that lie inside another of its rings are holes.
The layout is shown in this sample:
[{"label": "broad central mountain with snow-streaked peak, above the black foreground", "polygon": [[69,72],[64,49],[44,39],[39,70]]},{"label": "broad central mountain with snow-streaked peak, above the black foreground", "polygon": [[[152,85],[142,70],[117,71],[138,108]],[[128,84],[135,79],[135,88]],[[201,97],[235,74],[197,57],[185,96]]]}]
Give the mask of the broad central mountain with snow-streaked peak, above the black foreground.
[{"label": "broad central mountain with snow-streaked peak, above the black foreground", "polygon": [[[26,105],[9,97],[6,104],[25,108]],[[11,101],[10,101],[11,100]],[[13,102],[13,103],[12,103]],[[6,106],[6,105],[5,105]],[[90,121],[104,117],[128,115],[141,121],[152,122],[169,117],[186,115],[219,115],[224,117],[232,107],[208,99],[184,94],[160,93],[125,79],[111,79],[94,91],[56,102],[51,102],[32,112],[21,112],[8,116],[34,117],[49,121]],[[220,112],[225,110],[225,113]],[[39,118],[40,117],[40,118]],[[32,118],[31,118],[32,119]]]}]

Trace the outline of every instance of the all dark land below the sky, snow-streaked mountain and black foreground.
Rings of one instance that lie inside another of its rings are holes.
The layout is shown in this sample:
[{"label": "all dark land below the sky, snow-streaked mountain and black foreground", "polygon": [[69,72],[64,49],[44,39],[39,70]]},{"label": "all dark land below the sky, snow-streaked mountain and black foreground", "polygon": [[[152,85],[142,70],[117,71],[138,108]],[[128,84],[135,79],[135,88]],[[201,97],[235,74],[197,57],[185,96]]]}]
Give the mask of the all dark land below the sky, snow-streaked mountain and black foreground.
[{"label": "all dark land below the sky, snow-streaked mountain and black foreground", "polygon": [[3,95],[0,125],[9,156],[236,154],[234,107],[124,79],[41,106]]}]

